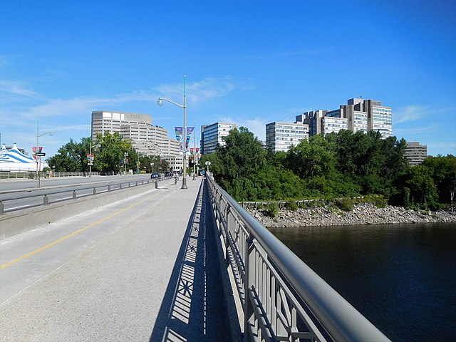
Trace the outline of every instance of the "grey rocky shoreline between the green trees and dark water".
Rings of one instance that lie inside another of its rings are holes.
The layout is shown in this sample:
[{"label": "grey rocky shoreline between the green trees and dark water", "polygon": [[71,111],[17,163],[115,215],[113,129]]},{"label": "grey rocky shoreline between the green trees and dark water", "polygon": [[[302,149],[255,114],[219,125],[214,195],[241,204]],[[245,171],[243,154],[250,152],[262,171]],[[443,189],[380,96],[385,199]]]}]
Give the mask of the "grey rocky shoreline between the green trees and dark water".
[{"label": "grey rocky shoreline between the green trees and dark water", "polygon": [[266,210],[247,211],[267,228],[456,222],[456,212],[415,212],[393,206],[377,208],[372,203],[356,204],[350,212],[331,207],[309,207],[296,211],[280,209],[276,217],[270,217]]}]

